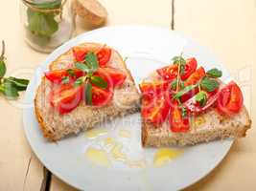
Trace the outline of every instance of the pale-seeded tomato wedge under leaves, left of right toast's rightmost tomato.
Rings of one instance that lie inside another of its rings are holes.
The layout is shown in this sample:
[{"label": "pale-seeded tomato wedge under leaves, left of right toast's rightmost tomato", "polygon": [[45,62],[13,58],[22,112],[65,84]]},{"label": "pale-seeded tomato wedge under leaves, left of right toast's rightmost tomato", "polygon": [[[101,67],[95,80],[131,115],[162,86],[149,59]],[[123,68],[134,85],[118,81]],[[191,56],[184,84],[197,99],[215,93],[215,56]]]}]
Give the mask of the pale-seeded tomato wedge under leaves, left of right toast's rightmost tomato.
[{"label": "pale-seeded tomato wedge under leaves, left of right toast's rightmost tomato", "polygon": [[202,107],[196,101],[195,96],[193,96],[192,98],[184,102],[184,106],[187,108],[190,114],[199,114],[201,112],[204,112],[208,108],[212,107],[216,103],[218,97],[220,96],[219,91],[214,91],[210,94],[209,93],[207,94],[208,94],[207,102]]}]

